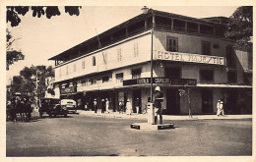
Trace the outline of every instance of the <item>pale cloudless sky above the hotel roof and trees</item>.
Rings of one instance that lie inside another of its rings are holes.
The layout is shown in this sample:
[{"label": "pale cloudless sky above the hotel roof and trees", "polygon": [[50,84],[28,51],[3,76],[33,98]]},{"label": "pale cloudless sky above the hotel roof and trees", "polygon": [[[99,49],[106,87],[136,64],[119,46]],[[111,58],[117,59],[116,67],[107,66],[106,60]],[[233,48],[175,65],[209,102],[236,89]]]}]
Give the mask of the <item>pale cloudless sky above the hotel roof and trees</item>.
[{"label": "pale cloudless sky above the hotel roof and trees", "polygon": [[[24,61],[16,62],[7,72],[7,80],[11,76],[19,75],[25,66],[54,65],[48,61],[55,56],[110,27],[119,25],[139,14],[143,6],[134,7],[82,7],[80,16],[69,16],[64,7],[59,7],[61,16],[47,19],[32,17],[32,12],[25,17],[21,16],[22,23],[18,27],[7,27],[15,38],[15,48],[21,49],[25,55]],[[216,7],[160,7],[148,6],[155,10],[193,18],[224,16],[229,17],[236,6]],[[96,29],[95,29],[96,28]]]}]

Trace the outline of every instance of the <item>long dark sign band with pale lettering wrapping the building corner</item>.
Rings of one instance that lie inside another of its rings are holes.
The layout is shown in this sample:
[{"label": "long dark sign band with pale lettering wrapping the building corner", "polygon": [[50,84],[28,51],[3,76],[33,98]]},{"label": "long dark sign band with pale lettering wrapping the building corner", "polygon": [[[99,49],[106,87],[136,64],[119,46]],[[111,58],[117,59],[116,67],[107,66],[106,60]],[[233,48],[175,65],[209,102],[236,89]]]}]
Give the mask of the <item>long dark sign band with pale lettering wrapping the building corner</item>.
[{"label": "long dark sign band with pale lettering wrapping the building corner", "polygon": [[[123,81],[123,85],[133,84],[148,84],[151,83],[151,78],[141,78],[134,80]],[[153,78],[153,83],[156,85],[196,85],[197,81],[192,79],[168,79],[168,78]]]}]

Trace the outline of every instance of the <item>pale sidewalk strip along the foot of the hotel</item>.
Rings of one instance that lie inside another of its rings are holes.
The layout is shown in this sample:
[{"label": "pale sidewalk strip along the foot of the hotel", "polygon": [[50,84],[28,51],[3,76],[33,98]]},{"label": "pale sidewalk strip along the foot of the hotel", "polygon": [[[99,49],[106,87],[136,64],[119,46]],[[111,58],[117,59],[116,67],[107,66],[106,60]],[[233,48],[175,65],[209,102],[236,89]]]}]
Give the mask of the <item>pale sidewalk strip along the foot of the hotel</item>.
[{"label": "pale sidewalk strip along the foot of the hotel", "polygon": [[[123,119],[141,119],[147,120],[147,114],[119,114],[118,112],[111,112],[109,114],[101,114],[100,112],[95,113],[94,111],[78,110],[79,115],[91,116],[91,117],[103,117],[103,118],[123,118]],[[193,118],[189,118],[188,115],[162,115],[163,120],[209,120],[209,119],[252,119],[252,115],[193,115]]]}]

